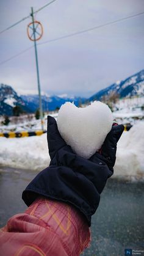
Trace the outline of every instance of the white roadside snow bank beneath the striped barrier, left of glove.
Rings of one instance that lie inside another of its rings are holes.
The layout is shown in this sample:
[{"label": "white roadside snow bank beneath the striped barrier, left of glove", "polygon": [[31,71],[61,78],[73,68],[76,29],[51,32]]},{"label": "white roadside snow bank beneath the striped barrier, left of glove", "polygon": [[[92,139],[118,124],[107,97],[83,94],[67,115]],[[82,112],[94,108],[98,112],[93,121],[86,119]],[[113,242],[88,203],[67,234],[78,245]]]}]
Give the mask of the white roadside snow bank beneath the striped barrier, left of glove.
[{"label": "white roadside snow bank beneath the striped barrier, left of glove", "polygon": [[41,170],[49,166],[46,134],[7,139],[0,137],[0,164],[13,168]]}]

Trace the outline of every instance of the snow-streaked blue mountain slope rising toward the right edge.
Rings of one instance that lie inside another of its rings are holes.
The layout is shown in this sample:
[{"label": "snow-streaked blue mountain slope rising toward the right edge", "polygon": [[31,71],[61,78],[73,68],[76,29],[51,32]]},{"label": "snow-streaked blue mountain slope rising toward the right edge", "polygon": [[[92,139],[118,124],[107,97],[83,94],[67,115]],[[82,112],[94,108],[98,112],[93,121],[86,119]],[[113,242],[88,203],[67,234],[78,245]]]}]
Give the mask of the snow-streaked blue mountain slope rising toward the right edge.
[{"label": "snow-streaked blue mountain slope rising toward the right edge", "polygon": [[111,92],[117,93],[120,98],[144,95],[144,70],[129,76],[124,81],[117,81],[106,89],[99,90],[89,98],[89,101],[101,100],[104,95],[109,96]]}]

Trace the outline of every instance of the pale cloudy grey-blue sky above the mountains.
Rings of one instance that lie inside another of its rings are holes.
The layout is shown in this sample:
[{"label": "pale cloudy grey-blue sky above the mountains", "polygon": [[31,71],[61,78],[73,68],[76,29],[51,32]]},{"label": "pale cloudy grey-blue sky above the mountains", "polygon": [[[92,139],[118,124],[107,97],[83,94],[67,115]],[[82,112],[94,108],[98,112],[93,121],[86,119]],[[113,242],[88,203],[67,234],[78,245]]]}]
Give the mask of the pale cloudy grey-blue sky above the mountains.
[{"label": "pale cloudy grey-blue sky above the mountains", "polygon": [[[0,31],[51,0],[1,0]],[[144,12],[143,0],[57,0],[35,15],[43,26],[37,41],[41,91],[49,95],[90,97],[113,82],[144,68],[144,15],[84,34],[48,42]],[[27,36],[31,17],[0,34],[0,83],[18,93],[34,93],[37,71],[34,46]],[[39,45],[38,45],[39,44]],[[41,45],[40,45],[41,44]]]}]

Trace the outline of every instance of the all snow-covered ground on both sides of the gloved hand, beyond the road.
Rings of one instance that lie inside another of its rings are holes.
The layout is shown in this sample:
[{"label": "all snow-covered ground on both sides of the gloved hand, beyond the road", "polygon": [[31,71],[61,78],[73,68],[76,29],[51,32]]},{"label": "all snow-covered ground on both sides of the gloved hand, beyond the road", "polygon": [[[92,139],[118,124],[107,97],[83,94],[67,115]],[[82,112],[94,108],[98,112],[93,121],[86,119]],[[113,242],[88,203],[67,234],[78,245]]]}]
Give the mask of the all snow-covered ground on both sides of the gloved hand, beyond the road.
[{"label": "all snow-covered ground on both sides of the gloved hand, beyond the road", "polygon": [[[131,123],[131,130],[124,131],[118,142],[117,161],[113,178],[124,180],[144,180],[144,97],[140,100],[126,99],[117,103],[118,110],[113,112],[113,119],[118,123]],[[51,114],[57,118],[57,113]],[[40,120],[22,120],[1,126],[4,131],[40,130]],[[45,130],[47,116],[45,115]],[[7,139],[0,137],[0,166],[42,170],[49,165],[46,134],[41,136]]]}]

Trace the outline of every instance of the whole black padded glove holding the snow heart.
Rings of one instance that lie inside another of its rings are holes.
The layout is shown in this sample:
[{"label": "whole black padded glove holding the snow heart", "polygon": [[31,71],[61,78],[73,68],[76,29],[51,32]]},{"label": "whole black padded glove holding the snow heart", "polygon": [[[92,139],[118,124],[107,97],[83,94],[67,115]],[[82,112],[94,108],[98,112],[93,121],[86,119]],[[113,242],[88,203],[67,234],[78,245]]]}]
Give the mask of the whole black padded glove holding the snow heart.
[{"label": "whole black padded glove holding the snow heart", "polygon": [[[113,127],[101,148],[102,154],[96,152],[90,159],[85,159],[71,150],[60,136],[56,120],[48,116],[51,162],[23,191],[26,205],[31,205],[38,195],[67,202],[81,211],[90,226],[91,217],[99,205],[101,191],[113,173],[117,141],[123,130],[123,125],[117,126],[117,129]],[[108,153],[107,148],[110,150]]]}]

